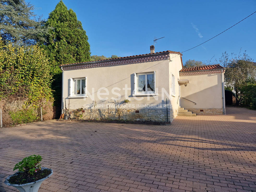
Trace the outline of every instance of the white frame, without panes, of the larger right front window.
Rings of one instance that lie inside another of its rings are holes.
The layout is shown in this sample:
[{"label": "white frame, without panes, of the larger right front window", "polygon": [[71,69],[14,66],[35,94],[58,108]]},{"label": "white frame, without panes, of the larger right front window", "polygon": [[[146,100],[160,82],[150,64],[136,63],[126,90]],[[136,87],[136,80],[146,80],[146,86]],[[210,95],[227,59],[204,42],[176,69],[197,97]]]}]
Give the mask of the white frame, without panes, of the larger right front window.
[{"label": "white frame, without panes, of the larger right front window", "polygon": [[[147,75],[154,75],[154,91],[147,91]],[[138,76],[145,75],[145,91],[138,91]],[[134,91],[133,96],[137,95],[158,95],[156,93],[156,71],[144,72],[144,73],[134,73]]]}]

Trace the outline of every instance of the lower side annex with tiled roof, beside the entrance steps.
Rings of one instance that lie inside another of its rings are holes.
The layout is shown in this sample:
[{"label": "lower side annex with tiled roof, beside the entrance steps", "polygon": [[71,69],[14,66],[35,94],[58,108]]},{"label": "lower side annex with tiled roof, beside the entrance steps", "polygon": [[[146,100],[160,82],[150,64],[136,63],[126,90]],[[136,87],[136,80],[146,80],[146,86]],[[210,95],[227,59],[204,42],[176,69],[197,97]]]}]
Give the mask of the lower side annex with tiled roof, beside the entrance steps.
[{"label": "lower side annex with tiled roof, beside the entrance steps", "polygon": [[220,65],[181,69],[180,79],[190,83],[180,84],[180,106],[196,114],[226,114],[224,73],[225,68]]}]

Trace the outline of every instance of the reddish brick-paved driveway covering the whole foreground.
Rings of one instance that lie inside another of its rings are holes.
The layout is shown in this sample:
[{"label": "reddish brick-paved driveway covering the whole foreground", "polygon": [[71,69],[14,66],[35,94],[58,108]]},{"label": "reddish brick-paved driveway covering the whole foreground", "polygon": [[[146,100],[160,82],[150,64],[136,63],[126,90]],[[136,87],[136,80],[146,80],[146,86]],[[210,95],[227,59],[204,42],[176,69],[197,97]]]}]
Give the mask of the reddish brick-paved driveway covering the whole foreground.
[{"label": "reddish brick-paved driveway covering the whole foreground", "polygon": [[31,154],[48,191],[256,191],[256,111],[177,117],[172,125],[63,123],[0,129],[0,191]]}]

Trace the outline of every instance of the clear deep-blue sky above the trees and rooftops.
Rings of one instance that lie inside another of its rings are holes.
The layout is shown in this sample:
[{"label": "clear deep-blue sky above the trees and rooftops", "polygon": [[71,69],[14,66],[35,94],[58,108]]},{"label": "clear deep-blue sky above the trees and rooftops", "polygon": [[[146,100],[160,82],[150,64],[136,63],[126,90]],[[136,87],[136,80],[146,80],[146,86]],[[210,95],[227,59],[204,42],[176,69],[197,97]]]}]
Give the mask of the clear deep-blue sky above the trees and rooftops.
[{"label": "clear deep-blue sky above the trees and rooftops", "polygon": [[[30,1],[45,19],[59,1]],[[120,57],[159,51],[185,51],[256,11],[256,1],[69,1],[89,38],[91,55]],[[256,60],[256,13],[205,44],[183,53],[188,59],[219,59],[240,48]]]}]

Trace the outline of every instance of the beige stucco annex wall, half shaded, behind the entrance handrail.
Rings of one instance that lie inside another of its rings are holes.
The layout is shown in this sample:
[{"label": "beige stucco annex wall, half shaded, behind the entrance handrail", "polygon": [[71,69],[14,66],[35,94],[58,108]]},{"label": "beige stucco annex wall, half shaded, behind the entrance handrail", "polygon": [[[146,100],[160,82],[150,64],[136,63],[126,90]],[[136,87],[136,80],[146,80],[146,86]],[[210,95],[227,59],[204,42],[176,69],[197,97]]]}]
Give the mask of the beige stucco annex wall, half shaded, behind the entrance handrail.
[{"label": "beige stucco annex wall, half shaded, behind the entrance handrail", "polygon": [[220,71],[209,74],[180,75],[180,79],[189,80],[187,87],[184,84],[180,86],[181,97],[196,103],[195,105],[190,101],[181,99],[181,107],[185,109],[221,109],[223,105]]}]

